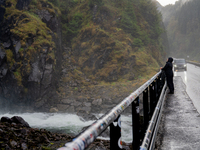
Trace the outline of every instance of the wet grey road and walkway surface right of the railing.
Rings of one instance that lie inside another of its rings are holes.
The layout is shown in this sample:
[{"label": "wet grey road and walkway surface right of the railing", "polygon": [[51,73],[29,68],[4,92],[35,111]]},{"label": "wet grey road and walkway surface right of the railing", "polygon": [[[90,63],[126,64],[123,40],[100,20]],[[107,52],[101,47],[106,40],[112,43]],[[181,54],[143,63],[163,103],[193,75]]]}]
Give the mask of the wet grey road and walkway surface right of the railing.
[{"label": "wet grey road and walkway surface right of the railing", "polygon": [[167,94],[155,150],[200,150],[200,67],[174,72],[174,94]]}]

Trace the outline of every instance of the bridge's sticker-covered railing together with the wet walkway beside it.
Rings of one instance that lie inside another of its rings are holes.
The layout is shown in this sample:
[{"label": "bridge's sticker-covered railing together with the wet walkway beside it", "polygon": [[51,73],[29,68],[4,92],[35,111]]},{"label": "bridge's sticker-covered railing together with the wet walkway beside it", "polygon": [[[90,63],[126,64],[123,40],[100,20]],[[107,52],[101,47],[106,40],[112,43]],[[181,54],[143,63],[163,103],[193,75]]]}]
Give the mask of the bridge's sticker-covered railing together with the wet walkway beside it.
[{"label": "bridge's sticker-covered railing together with the wet walkway beside it", "polygon": [[[130,134],[133,135],[133,150],[198,149],[200,116],[187,95],[186,81],[176,74],[174,94],[167,94],[165,76],[160,71],[72,142],[58,150],[84,150],[108,127],[110,149],[123,149],[120,115],[128,106],[132,106],[133,132]],[[143,101],[142,114],[140,100]]]}]

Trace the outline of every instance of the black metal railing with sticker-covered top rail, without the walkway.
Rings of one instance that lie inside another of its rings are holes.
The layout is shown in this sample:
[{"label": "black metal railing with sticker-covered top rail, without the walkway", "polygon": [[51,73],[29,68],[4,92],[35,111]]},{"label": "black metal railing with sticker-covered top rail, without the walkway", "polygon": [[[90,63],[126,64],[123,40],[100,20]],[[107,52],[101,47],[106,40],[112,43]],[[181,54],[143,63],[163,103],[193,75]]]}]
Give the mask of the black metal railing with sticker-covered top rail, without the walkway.
[{"label": "black metal railing with sticker-covered top rail, without the walkway", "polygon": [[[164,87],[164,88],[163,88]],[[110,126],[110,149],[122,149],[121,142],[121,120],[120,115],[132,106],[132,134],[133,141],[132,147],[134,150],[139,149],[141,144],[141,137],[144,138],[145,131],[148,128],[149,121],[158,110],[156,107],[160,95],[163,97],[163,92],[166,90],[165,75],[162,71],[154,75],[145,84],[139,87],[136,91],[126,97],[121,103],[115,106],[108,113],[104,114],[101,118],[95,121],[84,132],[77,136],[72,142],[65,144],[65,147],[58,150],[84,150],[93,141]],[[140,131],[140,108],[139,96],[143,94],[143,131]],[[156,109],[155,109],[156,108]],[[154,111],[155,110],[155,111]],[[151,122],[151,121],[150,121]],[[151,129],[152,131],[152,129]],[[146,134],[147,135],[147,134]],[[148,139],[149,140],[149,139]]]}]

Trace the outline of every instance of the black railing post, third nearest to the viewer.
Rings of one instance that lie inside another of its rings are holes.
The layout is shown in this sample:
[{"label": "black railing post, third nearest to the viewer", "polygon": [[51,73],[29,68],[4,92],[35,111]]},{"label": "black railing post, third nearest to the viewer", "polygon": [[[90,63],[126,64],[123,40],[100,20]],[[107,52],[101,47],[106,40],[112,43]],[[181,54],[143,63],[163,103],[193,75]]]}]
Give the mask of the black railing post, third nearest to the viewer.
[{"label": "black railing post, third nearest to the viewer", "polygon": [[149,124],[149,102],[148,102],[148,88],[143,92],[143,115],[144,115],[144,130]]}]

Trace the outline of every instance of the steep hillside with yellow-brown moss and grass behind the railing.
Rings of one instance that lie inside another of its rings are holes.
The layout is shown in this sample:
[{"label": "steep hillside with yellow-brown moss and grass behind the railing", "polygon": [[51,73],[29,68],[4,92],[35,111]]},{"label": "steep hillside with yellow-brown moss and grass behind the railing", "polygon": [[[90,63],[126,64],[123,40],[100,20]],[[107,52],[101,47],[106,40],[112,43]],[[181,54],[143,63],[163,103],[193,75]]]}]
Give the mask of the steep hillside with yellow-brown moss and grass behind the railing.
[{"label": "steep hillside with yellow-brown moss and grass behind the railing", "polygon": [[[65,66],[76,69],[70,69],[61,81],[77,84],[68,91],[66,86],[60,87],[62,96],[98,91],[101,87],[116,95],[119,84],[124,86],[117,93],[127,94],[130,87],[136,86],[133,84],[136,80],[141,85],[159,70],[164,56],[159,37],[163,30],[154,3],[148,0],[70,2],[73,5],[66,9],[68,15],[62,20],[63,39],[70,37],[65,43],[72,47],[70,62],[66,61]],[[93,85],[94,81],[99,84]]]}]

